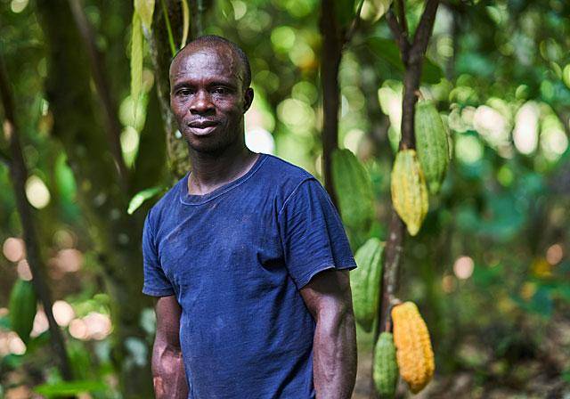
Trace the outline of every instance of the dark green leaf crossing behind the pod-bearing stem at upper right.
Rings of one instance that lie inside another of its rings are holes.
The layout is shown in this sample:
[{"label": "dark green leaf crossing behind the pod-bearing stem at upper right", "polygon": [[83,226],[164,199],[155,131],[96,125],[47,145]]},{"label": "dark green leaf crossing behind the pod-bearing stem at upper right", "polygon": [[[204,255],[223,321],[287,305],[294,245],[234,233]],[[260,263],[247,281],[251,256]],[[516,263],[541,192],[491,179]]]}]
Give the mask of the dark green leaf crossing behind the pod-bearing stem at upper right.
[{"label": "dark green leaf crossing behind the pod-bearing stem at upper right", "polygon": [[[366,41],[368,48],[382,61],[387,61],[395,69],[404,71],[400,49],[395,44],[394,40],[385,39],[382,37],[369,37]],[[421,82],[428,84],[439,83],[441,78],[444,77],[444,72],[434,62],[430,61],[428,57],[424,58],[423,68],[421,69]]]}]

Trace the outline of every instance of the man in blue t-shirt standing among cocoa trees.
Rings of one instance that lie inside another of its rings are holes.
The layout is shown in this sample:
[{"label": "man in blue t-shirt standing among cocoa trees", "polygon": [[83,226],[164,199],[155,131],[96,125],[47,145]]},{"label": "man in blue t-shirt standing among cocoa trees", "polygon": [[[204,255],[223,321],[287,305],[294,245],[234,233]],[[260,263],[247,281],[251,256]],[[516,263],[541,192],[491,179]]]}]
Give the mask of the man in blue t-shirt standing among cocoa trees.
[{"label": "man in blue t-shirt standing among cocoa trees", "polygon": [[248,59],[199,37],[170,67],[192,170],[147,216],[144,287],[156,302],[157,398],[349,398],[355,267],[314,177],[249,151]]}]

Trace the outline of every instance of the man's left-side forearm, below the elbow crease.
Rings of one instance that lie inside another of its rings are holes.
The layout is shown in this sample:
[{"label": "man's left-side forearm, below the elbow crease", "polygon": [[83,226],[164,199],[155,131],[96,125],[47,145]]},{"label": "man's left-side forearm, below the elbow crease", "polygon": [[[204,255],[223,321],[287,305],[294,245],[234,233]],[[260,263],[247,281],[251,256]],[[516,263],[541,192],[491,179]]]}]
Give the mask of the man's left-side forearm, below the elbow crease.
[{"label": "man's left-side forearm, below the elbow crease", "polygon": [[188,397],[188,383],[180,347],[155,342],[152,350],[152,383],[156,399]]}]

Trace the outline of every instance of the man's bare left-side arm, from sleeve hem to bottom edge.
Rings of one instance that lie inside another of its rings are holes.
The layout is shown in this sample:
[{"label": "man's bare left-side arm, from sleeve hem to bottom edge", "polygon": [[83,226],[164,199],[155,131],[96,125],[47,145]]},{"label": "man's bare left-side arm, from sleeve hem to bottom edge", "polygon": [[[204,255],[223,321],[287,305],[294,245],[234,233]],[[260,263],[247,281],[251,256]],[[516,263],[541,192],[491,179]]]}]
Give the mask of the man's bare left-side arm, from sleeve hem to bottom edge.
[{"label": "man's bare left-side arm, from sleeve hem to bottom edge", "polygon": [[180,349],[181,308],[175,296],[156,302],[157,335],[152,348],[152,383],[156,399],[185,399],[188,384]]}]

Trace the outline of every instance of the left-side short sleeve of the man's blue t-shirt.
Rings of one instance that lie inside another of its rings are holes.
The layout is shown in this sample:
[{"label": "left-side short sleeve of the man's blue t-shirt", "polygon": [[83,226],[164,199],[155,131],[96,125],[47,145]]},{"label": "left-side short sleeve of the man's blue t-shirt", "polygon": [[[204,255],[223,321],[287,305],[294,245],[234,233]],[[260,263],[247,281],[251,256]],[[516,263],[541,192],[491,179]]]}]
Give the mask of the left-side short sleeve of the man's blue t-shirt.
[{"label": "left-side short sleeve of the man's blue t-shirt", "polygon": [[174,295],[175,290],[160,265],[153,228],[151,213],[149,212],[142,230],[142,260],[144,266],[142,293],[151,297],[167,297]]}]

